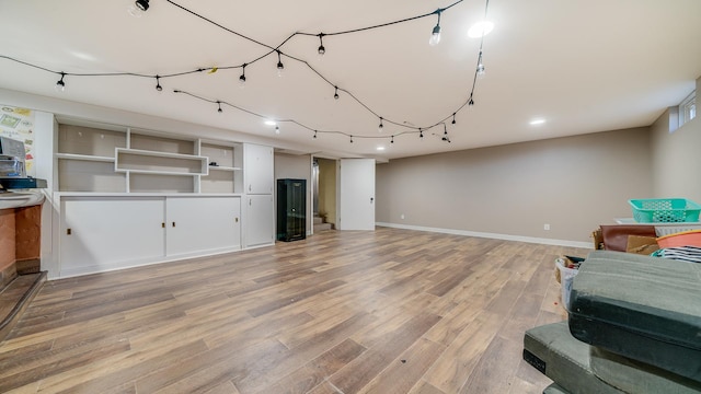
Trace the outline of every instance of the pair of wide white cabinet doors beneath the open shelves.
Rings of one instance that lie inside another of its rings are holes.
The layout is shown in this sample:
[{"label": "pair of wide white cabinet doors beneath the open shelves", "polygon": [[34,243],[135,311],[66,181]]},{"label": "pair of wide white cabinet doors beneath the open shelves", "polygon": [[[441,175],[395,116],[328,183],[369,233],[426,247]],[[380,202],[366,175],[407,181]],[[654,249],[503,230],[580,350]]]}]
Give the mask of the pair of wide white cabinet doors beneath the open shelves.
[{"label": "pair of wide white cabinet doors beneath the open shelves", "polygon": [[239,196],[62,197],[60,277],[241,250]]}]

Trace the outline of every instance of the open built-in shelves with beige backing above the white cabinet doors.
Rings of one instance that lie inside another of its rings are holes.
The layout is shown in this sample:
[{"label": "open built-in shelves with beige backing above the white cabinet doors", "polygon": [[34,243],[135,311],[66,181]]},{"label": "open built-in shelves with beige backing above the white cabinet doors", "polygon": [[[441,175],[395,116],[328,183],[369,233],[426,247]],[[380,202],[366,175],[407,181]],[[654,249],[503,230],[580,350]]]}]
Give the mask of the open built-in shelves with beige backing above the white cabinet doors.
[{"label": "open built-in shelves with beige backing above the white cabinet doors", "polygon": [[57,132],[58,192],[243,192],[241,143],[81,121]]}]

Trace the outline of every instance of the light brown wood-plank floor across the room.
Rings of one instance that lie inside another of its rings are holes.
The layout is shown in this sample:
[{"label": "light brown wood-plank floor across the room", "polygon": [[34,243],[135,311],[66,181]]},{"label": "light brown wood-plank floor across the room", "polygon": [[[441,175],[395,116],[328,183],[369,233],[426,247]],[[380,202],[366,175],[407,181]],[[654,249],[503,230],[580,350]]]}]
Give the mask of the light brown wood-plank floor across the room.
[{"label": "light brown wood-plank floor across the room", "polygon": [[541,393],[524,332],[587,253],[378,228],[49,281],[0,392]]}]

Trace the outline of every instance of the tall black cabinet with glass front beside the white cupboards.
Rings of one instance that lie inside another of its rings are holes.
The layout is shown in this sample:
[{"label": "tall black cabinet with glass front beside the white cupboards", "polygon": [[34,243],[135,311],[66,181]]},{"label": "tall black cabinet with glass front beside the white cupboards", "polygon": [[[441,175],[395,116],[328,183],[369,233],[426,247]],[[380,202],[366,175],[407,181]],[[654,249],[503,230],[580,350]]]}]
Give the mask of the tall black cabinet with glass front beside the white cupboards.
[{"label": "tall black cabinet with glass front beside the white cupboards", "polygon": [[307,237],[307,179],[277,179],[277,240]]}]

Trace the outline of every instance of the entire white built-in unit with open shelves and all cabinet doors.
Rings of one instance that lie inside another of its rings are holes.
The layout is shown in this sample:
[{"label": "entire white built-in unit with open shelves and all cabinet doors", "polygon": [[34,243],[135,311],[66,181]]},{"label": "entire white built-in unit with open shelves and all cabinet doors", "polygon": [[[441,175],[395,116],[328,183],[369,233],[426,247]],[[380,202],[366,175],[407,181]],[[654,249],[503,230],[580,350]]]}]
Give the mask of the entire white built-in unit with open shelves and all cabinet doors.
[{"label": "entire white built-in unit with open shelves and all cabinet doors", "polygon": [[274,243],[271,147],[72,119],[55,142],[53,277]]}]

